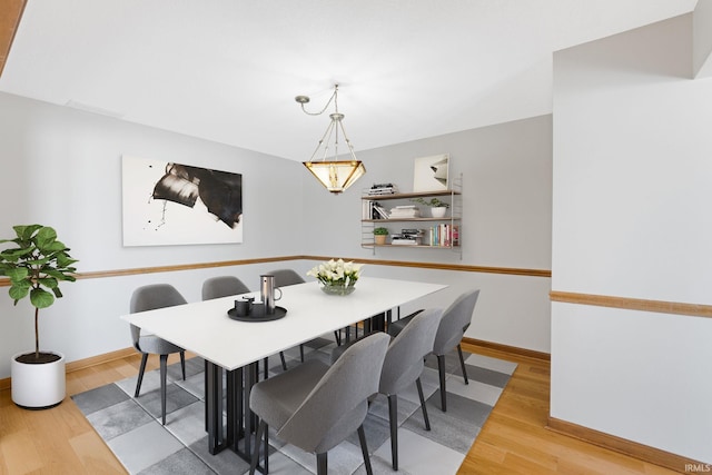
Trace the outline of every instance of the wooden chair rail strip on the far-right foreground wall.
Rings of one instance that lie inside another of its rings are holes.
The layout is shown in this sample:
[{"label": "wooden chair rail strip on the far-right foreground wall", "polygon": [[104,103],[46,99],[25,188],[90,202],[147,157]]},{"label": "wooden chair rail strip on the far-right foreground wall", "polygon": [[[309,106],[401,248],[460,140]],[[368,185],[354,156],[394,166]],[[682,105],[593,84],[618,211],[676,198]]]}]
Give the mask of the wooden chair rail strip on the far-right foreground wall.
[{"label": "wooden chair rail strip on the far-right foreground wall", "polygon": [[660,314],[688,315],[712,318],[712,305],[686,304],[681,301],[645,300],[641,298],[613,297],[607,295],[576,294],[552,290],[552,301],[599,307],[623,308],[626,310],[654,311]]}]

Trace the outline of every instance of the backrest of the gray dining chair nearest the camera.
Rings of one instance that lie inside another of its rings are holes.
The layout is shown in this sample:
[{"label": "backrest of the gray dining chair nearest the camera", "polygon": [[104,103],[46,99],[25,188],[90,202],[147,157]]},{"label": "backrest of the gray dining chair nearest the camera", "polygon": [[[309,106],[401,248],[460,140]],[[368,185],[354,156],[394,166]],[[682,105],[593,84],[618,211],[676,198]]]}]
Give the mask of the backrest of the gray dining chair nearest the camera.
[{"label": "backrest of the gray dining chair nearest the camera", "polygon": [[385,333],[376,333],[344,352],[277,437],[319,454],[356,432],[368,412],[368,397],[378,392],[389,340]]}]

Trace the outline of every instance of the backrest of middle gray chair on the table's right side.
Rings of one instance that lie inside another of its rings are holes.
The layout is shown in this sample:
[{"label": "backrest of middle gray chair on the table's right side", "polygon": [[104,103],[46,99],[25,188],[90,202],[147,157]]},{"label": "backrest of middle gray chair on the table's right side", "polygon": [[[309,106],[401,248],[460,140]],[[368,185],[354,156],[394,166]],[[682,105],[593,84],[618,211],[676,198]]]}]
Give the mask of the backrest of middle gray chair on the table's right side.
[{"label": "backrest of middle gray chair on the table's right side", "polygon": [[424,358],[433,350],[442,315],[442,309],[423,310],[393,338],[380,373],[379,393],[398,394],[421,376]]}]

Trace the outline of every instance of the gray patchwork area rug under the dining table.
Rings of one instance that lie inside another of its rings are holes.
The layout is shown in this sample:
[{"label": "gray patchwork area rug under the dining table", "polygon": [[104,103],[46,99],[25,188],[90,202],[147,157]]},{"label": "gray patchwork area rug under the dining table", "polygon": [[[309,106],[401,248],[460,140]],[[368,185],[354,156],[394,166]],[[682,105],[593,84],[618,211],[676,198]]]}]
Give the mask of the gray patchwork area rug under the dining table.
[{"label": "gray patchwork area rug under the dining table", "polygon": [[[305,345],[306,358],[328,362],[334,342],[317,338]],[[288,367],[299,364],[298,348],[285,352]],[[425,431],[415,385],[398,397],[399,469],[390,467],[388,403],[378,396],[365,422],[375,474],[455,474],[496,404],[516,364],[465,353],[469,384],[465,385],[456,350],[446,358],[447,413],[441,410],[436,358],[428,357],[421,377],[432,431]],[[269,359],[270,373],[281,372],[279,357]],[[260,372],[261,372],[260,366]],[[134,398],[137,377],[88,390],[72,397],[87,419],[131,474],[245,474],[249,465],[231,451],[208,452],[205,432],[204,362],[186,362],[168,368],[166,426],[160,424],[158,370],[146,373],[141,395]],[[316,457],[269,437],[270,474],[315,474]],[[365,474],[354,434],[329,451],[329,474]]]}]

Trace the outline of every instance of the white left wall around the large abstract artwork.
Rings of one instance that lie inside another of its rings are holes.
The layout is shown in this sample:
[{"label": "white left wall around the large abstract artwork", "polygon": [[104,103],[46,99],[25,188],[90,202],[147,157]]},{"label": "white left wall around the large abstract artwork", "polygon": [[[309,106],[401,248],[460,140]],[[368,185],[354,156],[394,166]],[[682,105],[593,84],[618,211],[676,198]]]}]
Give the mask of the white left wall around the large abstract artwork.
[{"label": "white left wall around the large abstract artwork", "polygon": [[[79,271],[301,253],[301,232],[289,231],[301,227],[301,181],[294,178],[301,174],[299,164],[4,93],[0,152],[0,237],[13,237],[16,224],[52,226],[80,259]],[[243,174],[244,244],[122,247],[122,154]],[[129,334],[118,316],[128,313],[134,288],[162,280],[176,285],[188,300],[198,300],[205,277],[230,271],[257,288],[260,266],[66,284],[65,297],[40,311],[40,342],[63,352],[69,362],[126,348]],[[34,339],[29,301],[13,307],[7,287],[0,291],[2,378],[9,376],[10,356],[33,348]]]}]

